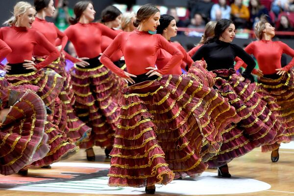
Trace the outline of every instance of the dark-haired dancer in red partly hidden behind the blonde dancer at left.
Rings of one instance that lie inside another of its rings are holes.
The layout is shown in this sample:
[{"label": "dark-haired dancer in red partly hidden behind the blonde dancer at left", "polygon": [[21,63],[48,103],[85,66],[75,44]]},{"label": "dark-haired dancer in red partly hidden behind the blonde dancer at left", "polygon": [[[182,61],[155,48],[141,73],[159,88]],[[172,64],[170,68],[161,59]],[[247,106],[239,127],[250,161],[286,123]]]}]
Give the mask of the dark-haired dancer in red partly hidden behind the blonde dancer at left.
[{"label": "dark-haired dancer in red partly hidden behind the blonde dancer at left", "polygon": [[[52,45],[55,45],[57,39],[60,39],[61,45],[56,48],[59,49],[59,51],[63,51],[68,41],[67,36],[58,30],[53,23],[49,23],[45,20],[45,17],[52,17],[55,11],[53,0],[34,0],[34,5],[37,15],[35,18],[36,20],[32,24],[32,28],[41,32]],[[42,45],[37,45],[34,48],[34,55],[36,63],[42,62],[44,61],[44,57],[49,55],[49,51]],[[86,63],[80,61],[79,59],[76,59],[76,61],[76,64]],[[58,104],[58,107],[55,105],[55,110],[53,112],[57,113],[56,116],[60,119],[58,121],[59,128],[64,130],[69,138],[79,143],[83,138],[90,134],[91,128],[80,121],[73,113],[73,86],[71,82],[71,75],[66,72],[65,66],[66,62],[63,53],[61,53],[59,58],[55,59],[55,61],[47,66],[47,68],[54,70],[64,78],[63,87],[58,96],[62,102]]]}]

